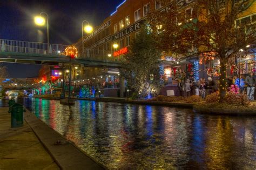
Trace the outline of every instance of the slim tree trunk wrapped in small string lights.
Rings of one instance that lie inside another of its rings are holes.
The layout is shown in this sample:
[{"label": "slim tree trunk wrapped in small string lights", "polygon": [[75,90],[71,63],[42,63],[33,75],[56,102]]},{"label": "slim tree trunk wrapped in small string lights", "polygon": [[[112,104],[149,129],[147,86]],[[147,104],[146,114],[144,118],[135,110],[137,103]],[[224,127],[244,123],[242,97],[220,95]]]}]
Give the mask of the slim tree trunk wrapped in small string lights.
[{"label": "slim tree trunk wrapped in small string lights", "polygon": [[220,79],[219,79],[219,102],[221,103],[226,95],[226,70],[227,70],[227,61],[226,59],[220,59]]}]

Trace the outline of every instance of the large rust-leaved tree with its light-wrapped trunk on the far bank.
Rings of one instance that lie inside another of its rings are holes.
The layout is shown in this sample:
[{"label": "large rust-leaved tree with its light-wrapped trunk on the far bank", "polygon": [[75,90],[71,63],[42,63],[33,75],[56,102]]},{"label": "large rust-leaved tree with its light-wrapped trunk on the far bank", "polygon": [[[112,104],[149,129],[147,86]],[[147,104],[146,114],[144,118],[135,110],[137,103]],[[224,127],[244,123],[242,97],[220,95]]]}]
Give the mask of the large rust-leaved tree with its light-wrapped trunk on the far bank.
[{"label": "large rust-leaved tree with its light-wrapped trunk on the far bank", "polygon": [[222,101],[226,94],[228,60],[232,60],[241,48],[256,41],[255,24],[245,22],[240,23],[239,26],[235,25],[235,21],[243,13],[255,12],[255,2],[197,0],[190,4],[193,13],[189,10],[180,10],[180,7],[186,4],[170,0],[164,3],[167,6],[165,10],[152,12],[149,17],[159,46],[178,53],[178,58],[188,56],[219,58],[219,97]]}]

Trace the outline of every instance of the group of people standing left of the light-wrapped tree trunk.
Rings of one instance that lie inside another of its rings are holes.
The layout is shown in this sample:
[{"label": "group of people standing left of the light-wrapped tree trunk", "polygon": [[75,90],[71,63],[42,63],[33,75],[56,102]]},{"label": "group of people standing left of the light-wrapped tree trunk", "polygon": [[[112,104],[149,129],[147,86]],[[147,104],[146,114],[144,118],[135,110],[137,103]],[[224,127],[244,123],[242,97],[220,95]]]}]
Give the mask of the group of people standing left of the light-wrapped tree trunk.
[{"label": "group of people standing left of the light-wrapped tree trunk", "polygon": [[178,80],[178,89],[180,96],[190,97],[191,95],[201,96],[202,98],[206,97],[206,94],[211,94],[218,90],[217,84],[215,81],[208,77],[208,82],[201,78],[200,81],[196,81],[194,78]]}]

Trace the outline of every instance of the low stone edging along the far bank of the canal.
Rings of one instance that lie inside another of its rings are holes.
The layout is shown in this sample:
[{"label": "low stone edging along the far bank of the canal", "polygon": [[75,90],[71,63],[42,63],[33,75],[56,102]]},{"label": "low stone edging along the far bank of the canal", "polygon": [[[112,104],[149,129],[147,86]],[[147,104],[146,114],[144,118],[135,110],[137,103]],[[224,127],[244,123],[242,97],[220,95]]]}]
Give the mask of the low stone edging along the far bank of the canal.
[{"label": "low stone edging along the far bank of the canal", "polygon": [[146,100],[127,100],[118,98],[73,98],[78,100],[93,100],[93,101],[104,101],[114,103],[127,103],[127,104],[140,104],[140,105],[157,105],[157,106],[172,106],[172,107],[183,107],[192,108],[194,112],[200,114],[213,114],[213,115],[256,115],[256,111],[248,110],[237,110],[230,108],[209,108],[198,104],[188,103],[171,103],[163,101],[146,101]]}]

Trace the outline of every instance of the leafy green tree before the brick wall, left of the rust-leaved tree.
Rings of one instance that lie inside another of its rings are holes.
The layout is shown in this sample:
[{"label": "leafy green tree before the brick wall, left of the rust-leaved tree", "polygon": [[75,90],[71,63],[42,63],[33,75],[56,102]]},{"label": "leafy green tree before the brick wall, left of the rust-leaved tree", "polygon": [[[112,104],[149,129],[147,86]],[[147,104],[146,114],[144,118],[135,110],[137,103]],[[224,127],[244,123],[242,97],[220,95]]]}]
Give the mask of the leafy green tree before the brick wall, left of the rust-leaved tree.
[{"label": "leafy green tree before the brick wall, left of the rust-leaved tree", "polygon": [[159,90],[160,51],[148,30],[141,30],[132,40],[121,74],[139,98],[150,98]]}]

